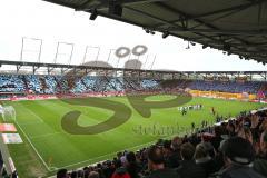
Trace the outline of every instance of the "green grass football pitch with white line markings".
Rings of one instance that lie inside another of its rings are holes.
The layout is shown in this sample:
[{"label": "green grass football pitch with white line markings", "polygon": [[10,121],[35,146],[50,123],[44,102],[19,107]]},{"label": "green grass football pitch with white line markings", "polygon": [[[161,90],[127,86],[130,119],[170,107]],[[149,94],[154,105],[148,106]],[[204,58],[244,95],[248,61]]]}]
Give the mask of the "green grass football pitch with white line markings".
[{"label": "green grass football pitch with white line markings", "polygon": [[[162,101],[170,96],[149,97],[149,100]],[[81,111],[79,125],[100,123],[112,116],[112,111],[95,107],[71,106],[61,100],[6,101],[6,106],[16,109],[16,127],[23,144],[9,145],[21,178],[47,177],[57,168],[79,168],[97,161],[112,158],[117,151],[137,150],[151,145],[159,138],[171,137],[178,132],[164,131],[164,128],[182,128],[180,135],[189,132],[191,122],[200,125],[205,119],[215,120],[210,108],[215,107],[221,116],[235,116],[244,110],[264,107],[260,103],[226,101],[219,99],[194,98],[188,105],[201,103],[202,110],[189,111],[181,116],[177,107],[154,109],[150,118],[142,118],[128,102],[126,97],[110,97],[108,100],[128,106],[131,118],[123,125],[98,135],[70,135],[61,128],[61,118],[72,110]],[[82,100],[82,99],[77,99]],[[149,131],[152,127],[156,131]]]}]

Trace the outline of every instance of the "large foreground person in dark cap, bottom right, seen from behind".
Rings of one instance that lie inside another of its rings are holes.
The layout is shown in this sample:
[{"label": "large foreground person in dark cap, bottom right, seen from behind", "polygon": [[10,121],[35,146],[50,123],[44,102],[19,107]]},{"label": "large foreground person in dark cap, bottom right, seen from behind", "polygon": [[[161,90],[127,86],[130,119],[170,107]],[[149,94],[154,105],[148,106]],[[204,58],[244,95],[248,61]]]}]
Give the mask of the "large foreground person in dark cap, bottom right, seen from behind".
[{"label": "large foreground person in dark cap, bottom right, seen from behind", "polygon": [[225,142],[225,169],[219,178],[264,178],[251,168],[255,159],[253,145],[240,137],[229,138]]}]

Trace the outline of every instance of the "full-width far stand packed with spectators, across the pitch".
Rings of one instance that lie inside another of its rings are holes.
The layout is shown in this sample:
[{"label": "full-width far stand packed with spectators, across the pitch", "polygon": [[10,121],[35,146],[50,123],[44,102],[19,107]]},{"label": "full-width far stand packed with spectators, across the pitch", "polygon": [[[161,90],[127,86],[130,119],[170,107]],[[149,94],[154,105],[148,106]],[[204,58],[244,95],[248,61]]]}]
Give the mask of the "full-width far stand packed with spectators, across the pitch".
[{"label": "full-width far stand packed with spectators, across the pitch", "polygon": [[204,80],[171,80],[131,79],[122,77],[85,76],[71,78],[62,76],[37,75],[0,75],[0,92],[30,93],[85,93],[123,90],[157,90],[162,88],[190,88],[204,91],[248,92],[267,95],[266,82],[263,81],[204,81]]}]

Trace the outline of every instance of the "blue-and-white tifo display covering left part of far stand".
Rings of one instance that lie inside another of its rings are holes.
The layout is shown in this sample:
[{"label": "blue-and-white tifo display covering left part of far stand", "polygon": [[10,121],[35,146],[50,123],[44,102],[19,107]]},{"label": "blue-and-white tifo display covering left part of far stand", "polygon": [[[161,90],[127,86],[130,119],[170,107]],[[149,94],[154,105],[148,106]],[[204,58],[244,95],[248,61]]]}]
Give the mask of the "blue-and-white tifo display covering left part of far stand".
[{"label": "blue-and-white tifo display covering left part of far stand", "polygon": [[82,78],[69,78],[62,76],[36,76],[36,75],[1,75],[1,92],[31,92],[57,93],[60,91],[83,93],[90,91],[122,91],[126,88],[135,90],[157,89],[159,81],[145,79],[140,82],[130,78],[112,78],[105,76],[85,76]]}]

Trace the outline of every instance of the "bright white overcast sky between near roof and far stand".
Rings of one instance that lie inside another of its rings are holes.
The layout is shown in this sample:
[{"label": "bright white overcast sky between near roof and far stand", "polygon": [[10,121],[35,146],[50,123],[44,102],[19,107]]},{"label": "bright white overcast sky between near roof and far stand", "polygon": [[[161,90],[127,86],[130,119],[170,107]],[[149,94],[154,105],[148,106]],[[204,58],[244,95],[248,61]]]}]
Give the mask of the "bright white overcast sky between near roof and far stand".
[{"label": "bright white overcast sky between near roof and far stand", "polygon": [[[201,44],[190,46],[187,41],[161,33],[147,34],[141,28],[98,17],[89,20],[89,13],[43,2],[41,0],[8,0],[0,6],[0,60],[20,60],[22,37],[42,39],[41,62],[53,62],[58,42],[73,43],[71,63],[82,63],[96,59],[107,61],[110,49],[121,46],[132,49],[145,44],[148,52],[140,57],[146,69],[168,69],[178,71],[246,71],[266,70],[256,61],[241,60],[238,56],[222,55],[222,51]],[[24,39],[23,61],[37,61],[40,41]],[[86,47],[89,46],[87,53]],[[57,62],[68,63],[70,44],[60,44]],[[86,53],[86,55],[85,55]],[[146,58],[148,56],[148,60]],[[155,63],[152,65],[156,56]],[[135,59],[135,56],[130,57]],[[129,59],[111,55],[109,63],[122,67]]]}]

